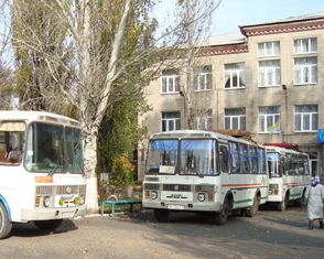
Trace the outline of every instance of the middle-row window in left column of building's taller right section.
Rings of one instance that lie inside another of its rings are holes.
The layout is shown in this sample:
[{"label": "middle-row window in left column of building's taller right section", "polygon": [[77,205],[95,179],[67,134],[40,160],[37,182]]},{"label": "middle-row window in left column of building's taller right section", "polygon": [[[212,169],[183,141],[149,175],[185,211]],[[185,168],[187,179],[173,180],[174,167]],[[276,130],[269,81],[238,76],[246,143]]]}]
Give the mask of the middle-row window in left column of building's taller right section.
[{"label": "middle-row window in left column of building's taller right section", "polygon": [[259,62],[259,86],[281,85],[280,61]]}]

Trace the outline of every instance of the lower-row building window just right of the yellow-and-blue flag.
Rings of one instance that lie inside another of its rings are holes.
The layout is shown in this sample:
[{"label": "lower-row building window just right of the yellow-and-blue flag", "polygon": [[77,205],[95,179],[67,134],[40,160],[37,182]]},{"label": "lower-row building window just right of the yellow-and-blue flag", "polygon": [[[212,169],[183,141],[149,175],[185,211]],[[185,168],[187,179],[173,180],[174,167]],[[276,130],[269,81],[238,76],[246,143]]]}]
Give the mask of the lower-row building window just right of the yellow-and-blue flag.
[{"label": "lower-row building window just right of the yellow-and-blue flag", "polygon": [[317,105],[294,106],[294,131],[316,131],[318,129]]}]

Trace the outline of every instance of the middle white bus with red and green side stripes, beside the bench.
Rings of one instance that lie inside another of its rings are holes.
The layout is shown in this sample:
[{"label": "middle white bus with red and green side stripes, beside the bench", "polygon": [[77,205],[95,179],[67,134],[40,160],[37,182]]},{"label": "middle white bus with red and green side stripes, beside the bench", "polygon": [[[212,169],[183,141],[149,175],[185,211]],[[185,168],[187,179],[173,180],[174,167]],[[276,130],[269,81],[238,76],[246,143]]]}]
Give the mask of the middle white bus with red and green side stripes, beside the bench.
[{"label": "middle white bus with red and green side stripes, beside the bench", "polygon": [[195,212],[222,225],[234,212],[255,216],[267,195],[262,145],[203,130],[151,136],[142,204],[156,220],[171,211]]}]

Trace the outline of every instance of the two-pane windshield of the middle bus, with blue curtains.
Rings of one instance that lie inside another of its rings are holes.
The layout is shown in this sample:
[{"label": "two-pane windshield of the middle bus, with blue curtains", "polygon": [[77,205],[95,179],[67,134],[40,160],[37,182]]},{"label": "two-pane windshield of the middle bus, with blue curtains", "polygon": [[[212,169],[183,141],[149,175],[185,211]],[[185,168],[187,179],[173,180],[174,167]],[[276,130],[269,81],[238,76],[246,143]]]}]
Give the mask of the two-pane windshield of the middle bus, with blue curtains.
[{"label": "two-pane windshield of the middle bus, with blue curtains", "polygon": [[153,139],[149,144],[147,173],[216,174],[215,140]]}]

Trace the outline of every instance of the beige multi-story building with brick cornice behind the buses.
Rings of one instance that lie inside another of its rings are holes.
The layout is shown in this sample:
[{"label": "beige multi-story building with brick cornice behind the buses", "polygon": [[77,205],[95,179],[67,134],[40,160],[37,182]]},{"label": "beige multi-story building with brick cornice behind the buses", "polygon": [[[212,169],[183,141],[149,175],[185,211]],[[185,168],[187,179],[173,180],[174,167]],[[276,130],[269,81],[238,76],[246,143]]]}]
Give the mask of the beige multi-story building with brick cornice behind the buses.
[{"label": "beige multi-story building with brick cornice behind the buses", "polygon": [[[190,125],[241,129],[259,143],[296,143],[310,154],[312,174],[323,175],[324,12],[239,29],[204,41],[191,69],[185,61],[165,66],[147,87],[153,110],[140,121],[149,133]],[[147,144],[139,147],[139,180]]]}]

